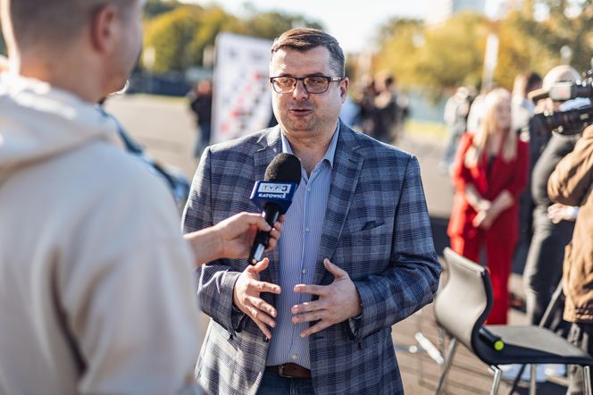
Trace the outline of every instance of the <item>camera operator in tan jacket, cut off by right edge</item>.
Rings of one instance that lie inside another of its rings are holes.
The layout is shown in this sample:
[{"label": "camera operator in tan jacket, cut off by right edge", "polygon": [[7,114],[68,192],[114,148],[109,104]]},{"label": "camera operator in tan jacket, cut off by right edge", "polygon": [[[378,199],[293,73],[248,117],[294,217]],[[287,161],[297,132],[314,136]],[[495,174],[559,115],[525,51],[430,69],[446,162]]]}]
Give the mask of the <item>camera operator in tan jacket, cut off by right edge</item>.
[{"label": "camera operator in tan jacket, cut off by right edge", "polygon": [[[569,340],[593,354],[593,126],[584,130],[572,153],[555,167],[547,193],[555,202],[580,206],[571,243],[564,253],[564,319],[572,323]],[[584,393],[582,374],[569,371],[567,394]]]}]

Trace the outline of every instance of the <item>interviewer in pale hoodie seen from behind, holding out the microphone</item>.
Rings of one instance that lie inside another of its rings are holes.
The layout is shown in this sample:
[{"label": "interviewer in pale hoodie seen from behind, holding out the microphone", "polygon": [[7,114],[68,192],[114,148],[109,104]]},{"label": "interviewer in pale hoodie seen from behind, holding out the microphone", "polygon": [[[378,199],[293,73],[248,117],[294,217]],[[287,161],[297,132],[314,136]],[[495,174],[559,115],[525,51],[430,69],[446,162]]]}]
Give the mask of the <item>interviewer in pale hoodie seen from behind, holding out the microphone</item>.
[{"label": "interviewer in pale hoodie seen from behind, holding out the microphone", "polygon": [[246,213],[184,240],[96,108],[138,58],[143,3],[0,0],[0,394],[199,391],[192,269],[278,240]]}]

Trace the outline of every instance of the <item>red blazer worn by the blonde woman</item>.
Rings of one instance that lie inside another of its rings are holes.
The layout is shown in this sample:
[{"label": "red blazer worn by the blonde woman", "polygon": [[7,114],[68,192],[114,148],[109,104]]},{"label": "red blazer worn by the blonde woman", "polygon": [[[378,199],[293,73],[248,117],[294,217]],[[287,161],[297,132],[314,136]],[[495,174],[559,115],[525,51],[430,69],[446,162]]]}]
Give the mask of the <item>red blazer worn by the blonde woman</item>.
[{"label": "red blazer worn by the blonde woman", "polygon": [[519,194],[525,188],[528,177],[529,145],[517,139],[517,155],[514,160],[506,163],[502,158],[502,147],[494,159],[490,177],[487,177],[488,159],[486,155],[480,157],[477,166],[470,169],[465,167],[464,159],[467,150],[472,147],[473,135],[466,132],[459,141],[455,164],[453,165],[453,183],[455,198],[447,234],[449,237],[460,236],[466,239],[474,237],[479,229],[472,225],[473,217],[477,214],[465,198],[465,186],[472,184],[483,198],[490,201],[497,198],[503,191],[508,190],[514,197],[514,205],[498,214],[492,223],[490,232],[495,232],[504,240],[516,242],[519,235]]}]

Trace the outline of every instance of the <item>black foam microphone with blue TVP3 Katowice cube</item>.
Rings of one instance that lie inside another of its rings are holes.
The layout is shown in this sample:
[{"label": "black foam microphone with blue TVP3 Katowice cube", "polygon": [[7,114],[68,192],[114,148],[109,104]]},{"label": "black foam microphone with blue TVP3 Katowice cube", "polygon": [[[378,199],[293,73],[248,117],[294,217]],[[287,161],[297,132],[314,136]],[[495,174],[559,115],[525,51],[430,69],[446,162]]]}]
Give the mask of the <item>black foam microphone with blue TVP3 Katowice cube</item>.
[{"label": "black foam microphone with blue TVP3 Katowice cube", "polygon": [[[263,181],[255,182],[251,201],[262,209],[262,216],[270,226],[274,226],[281,214],[286,214],[300,181],[301,161],[295,155],[278,154],[265,169]],[[269,242],[269,231],[257,231],[249,254],[250,264],[255,265],[262,260]]]}]

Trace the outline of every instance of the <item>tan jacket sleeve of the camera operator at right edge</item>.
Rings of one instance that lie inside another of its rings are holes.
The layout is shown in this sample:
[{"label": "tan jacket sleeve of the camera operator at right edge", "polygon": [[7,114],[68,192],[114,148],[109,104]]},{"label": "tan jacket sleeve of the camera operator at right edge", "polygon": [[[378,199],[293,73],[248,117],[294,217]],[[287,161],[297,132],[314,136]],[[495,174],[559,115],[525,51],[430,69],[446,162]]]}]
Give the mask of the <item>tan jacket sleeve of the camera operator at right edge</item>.
[{"label": "tan jacket sleeve of the camera operator at right edge", "polygon": [[555,202],[580,206],[593,183],[593,126],[577,141],[572,153],[556,165],[547,180],[547,194]]}]

